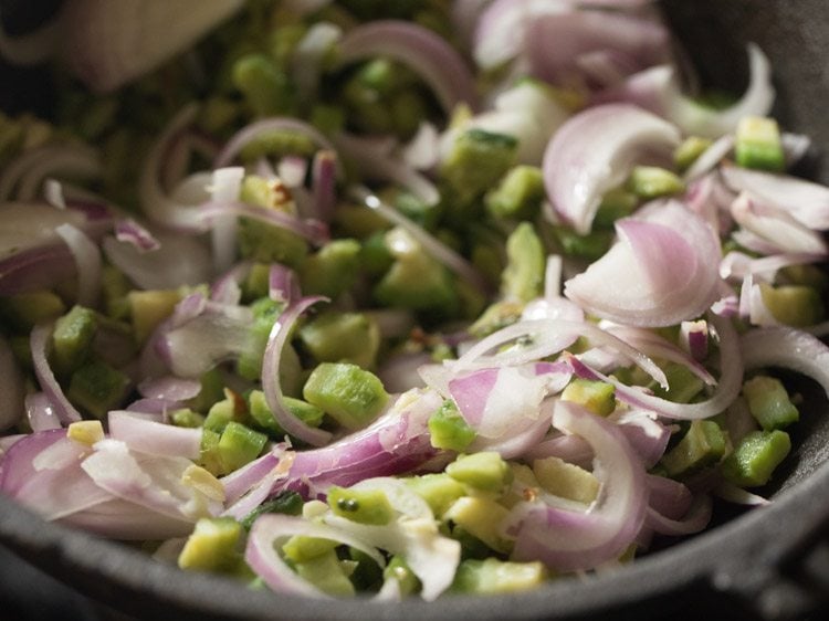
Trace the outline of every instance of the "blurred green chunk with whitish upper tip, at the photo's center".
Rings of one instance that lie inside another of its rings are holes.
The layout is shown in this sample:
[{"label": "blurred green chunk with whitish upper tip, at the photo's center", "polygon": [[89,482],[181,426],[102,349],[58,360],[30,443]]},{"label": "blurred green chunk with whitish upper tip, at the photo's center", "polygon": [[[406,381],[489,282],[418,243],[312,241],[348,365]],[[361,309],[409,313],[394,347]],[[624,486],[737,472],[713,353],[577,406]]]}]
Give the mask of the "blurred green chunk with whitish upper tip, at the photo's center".
[{"label": "blurred green chunk with whitish upper tip, at the photo's center", "polygon": [[458,290],[447,269],[429,256],[409,233],[392,229],[386,234],[395,263],[374,288],[384,306],[434,310],[453,315],[458,309]]}]

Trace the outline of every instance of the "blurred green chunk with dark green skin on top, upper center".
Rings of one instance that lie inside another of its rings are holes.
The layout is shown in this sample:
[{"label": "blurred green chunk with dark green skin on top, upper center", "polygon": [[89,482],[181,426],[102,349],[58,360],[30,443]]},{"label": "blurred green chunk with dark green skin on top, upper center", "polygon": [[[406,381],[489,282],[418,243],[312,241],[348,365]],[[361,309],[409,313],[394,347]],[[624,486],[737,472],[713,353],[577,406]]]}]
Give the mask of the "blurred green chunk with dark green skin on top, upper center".
[{"label": "blurred green chunk with dark green skin on top, upper center", "polygon": [[468,204],[513,166],[517,147],[513,136],[468,129],[455,139],[440,175],[459,201]]}]

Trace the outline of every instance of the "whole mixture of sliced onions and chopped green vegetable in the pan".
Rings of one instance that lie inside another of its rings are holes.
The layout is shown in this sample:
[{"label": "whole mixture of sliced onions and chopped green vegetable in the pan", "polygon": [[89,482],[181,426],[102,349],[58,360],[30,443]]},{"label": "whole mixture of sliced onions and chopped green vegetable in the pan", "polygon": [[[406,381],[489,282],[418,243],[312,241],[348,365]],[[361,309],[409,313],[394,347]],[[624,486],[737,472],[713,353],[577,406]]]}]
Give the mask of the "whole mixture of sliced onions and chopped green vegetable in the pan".
[{"label": "whole mixture of sliced onions and chopped green vegetable in the pan", "polygon": [[[252,0],[136,77],[133,3],[69,4],[51,120],[0,117],[2,494],[380,600],[768,502],[774,369],[829,390],[829,189],[760,49],[707,93],[647,1]],[[159,57],[218,19],[162,4]]]}]

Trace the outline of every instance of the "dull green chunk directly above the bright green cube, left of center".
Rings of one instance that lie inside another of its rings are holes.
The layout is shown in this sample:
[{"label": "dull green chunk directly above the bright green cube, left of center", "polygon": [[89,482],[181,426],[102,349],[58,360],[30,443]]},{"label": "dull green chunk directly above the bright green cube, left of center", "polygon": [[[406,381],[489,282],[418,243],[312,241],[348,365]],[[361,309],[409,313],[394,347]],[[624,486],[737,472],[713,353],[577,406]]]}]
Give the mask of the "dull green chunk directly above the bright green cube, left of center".
[{"label": "dull green chunk directly above the bright green cube, left of center", "polygon": [[300,329],[308,352],[321,362],[375,366],[380,349],[380,328],[363,313],[322,313]]}]

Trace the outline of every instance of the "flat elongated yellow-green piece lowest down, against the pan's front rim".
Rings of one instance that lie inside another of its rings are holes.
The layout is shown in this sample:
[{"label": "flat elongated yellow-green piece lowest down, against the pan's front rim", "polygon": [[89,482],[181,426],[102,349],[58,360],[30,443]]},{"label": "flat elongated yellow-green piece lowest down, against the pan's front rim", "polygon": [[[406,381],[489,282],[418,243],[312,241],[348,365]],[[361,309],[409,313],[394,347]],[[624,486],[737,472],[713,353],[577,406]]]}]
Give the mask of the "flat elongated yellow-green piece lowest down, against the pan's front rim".
[{"label": "flat elongated yellow-green piece lowest down, against the pan's front rim", "polygon": [[452,591],[471,594],[513,593],[535,589],[547,580],[544,564],[513,562],[487,558],[461,561]]}]

